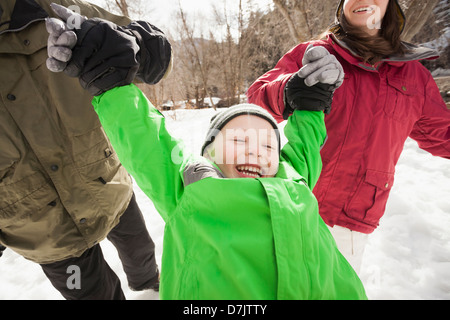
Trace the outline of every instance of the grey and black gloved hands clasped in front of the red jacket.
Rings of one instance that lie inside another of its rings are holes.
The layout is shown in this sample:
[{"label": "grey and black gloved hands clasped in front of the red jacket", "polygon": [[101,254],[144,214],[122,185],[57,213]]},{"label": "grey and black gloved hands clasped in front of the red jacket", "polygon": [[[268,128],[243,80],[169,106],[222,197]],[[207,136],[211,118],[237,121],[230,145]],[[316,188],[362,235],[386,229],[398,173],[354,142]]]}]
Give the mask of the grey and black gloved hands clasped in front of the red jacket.
[{"label": "grey and black gloved hands clasped in front of the red jacket", "polygon": [[335,56],[324,47],[309,45],[302,60],[303,67],[284,88],[284,119],[294,110],[331,110],[333,93],[344,81],[344,71]]}]

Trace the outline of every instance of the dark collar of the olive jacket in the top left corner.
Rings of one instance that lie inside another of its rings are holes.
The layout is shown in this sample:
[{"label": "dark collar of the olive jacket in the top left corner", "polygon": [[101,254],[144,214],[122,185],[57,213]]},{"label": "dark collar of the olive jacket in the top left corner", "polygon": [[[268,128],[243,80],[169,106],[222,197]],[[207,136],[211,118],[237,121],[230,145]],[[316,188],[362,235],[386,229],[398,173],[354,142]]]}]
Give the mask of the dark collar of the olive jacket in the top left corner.
[{"label": "dark collar of the olive jacket in the top left corner", "polygon": [[[3,1],[2,1],[3,2]],[[2,3],[2,7],[8,2]],[[6,32],[15,32],[25,29],[33,22],[44,20],[48,13],[36,3],[35,0],[16,0],[12,12],[8,12],[7,5],[2,9],[3,14],[0,17],[0,34]],[[1,26],[7,25],[6,28]]]}]

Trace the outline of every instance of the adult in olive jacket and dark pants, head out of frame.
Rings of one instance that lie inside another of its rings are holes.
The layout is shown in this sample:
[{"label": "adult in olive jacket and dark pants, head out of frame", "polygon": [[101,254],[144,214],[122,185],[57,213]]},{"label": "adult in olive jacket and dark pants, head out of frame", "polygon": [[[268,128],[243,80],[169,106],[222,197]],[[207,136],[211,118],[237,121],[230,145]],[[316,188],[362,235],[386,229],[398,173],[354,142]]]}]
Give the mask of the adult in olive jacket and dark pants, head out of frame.
[{"label": "adult in olive jacket and dark pants, head out of frame", "polygon": [[[77,78],[46,67],[50,2],[0,3],[0,246],[40,264],[66,299],[123,299],[99,242],[108,237],[116,246],[134,290],[159,283],[154,243],[92,96]],[[52,2],[130,24],[80,0]],[[161,57],[141,60],[145,74],[138,76],[154,83],[168,69],[170,44],[159,29],[139,23],[140,52]],[[79,270],[81,287],[67,287],[69,270]]]}]

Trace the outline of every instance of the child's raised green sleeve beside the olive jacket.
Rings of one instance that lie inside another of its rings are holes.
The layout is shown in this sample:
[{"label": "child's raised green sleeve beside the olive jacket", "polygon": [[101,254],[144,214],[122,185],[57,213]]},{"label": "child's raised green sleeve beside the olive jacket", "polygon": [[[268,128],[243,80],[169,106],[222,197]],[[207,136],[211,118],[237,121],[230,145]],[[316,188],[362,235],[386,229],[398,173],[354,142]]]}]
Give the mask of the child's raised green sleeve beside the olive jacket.
[{"label": "child's raised green sleeve beside the olive jacket", "polygon": [[166,220],[183,191],[181,168],[187,157],[182,143],[133,84],[109,90],[92,104],[121,163]]}]

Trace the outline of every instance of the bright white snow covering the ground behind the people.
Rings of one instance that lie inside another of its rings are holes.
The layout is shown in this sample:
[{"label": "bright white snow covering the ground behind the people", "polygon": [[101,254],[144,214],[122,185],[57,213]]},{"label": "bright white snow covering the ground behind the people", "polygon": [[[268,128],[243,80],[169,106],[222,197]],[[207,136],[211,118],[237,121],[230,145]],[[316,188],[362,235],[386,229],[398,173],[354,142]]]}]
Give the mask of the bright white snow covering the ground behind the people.
[{"label": "bright white snow covering the ground behind the people", "polygon": [[[166,113],[169,130],[198,153],[215,111]],[[137,200],[156,243],[160,264],[164,222],[135,186]],[[132,292],[114,247],[101,246],[119,275],[127,299],[158,299],[154,292]],[[361,270],[369,299],[450,299],[450,161],[421,151],[408,140],[386,214],[369,237]],[[0,299],[62,299],[39,265],[6,250],[0,258]]]}]

